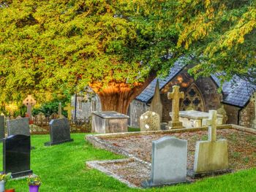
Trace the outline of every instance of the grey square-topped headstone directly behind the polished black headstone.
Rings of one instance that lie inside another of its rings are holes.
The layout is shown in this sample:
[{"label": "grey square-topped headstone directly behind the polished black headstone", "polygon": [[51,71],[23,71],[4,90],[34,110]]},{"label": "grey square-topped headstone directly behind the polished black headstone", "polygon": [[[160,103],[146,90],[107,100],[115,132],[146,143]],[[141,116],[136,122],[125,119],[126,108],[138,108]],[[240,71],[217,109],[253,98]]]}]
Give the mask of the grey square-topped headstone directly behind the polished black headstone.
[{"label": "grey square-topped headstone directly behind the polished black headstone", "polygon": [[30,136],[29,118],[7,120],[7,134],[8,136],[15,134]]}]

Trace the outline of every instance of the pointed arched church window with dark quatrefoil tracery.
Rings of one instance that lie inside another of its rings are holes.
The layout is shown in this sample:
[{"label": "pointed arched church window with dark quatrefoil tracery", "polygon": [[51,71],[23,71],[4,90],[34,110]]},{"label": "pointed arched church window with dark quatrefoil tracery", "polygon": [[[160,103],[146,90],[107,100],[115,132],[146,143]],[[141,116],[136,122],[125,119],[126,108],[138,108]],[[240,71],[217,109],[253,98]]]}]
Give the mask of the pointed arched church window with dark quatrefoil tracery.
[{"label": "pointed arched church window with dark quatrefoil tracery", "polygon": [[181,103],[181,110],[196,110],[204,111],[205,104],[203,96],[200,93],[200,90],[197,88],[195,83],[192,83],[185,93],[184,100]]}]

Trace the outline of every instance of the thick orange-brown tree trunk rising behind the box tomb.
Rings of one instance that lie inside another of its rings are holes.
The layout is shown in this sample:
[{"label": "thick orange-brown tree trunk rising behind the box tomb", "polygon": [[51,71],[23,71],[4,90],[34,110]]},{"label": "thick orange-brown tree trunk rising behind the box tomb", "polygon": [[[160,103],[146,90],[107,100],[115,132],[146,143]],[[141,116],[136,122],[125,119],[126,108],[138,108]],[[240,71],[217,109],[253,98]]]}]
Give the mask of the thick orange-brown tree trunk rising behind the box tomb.
[{"label": "thick orange-brown tree trunk rising behind the box tomb", "polygon": [[129,104],[154,80],[156,73],[149,74],[145,82],[127,85],[125,82],[112,81],[102,88],[102,83],[92,82],[90,87],[99,96],[102,111],[116,111],[127,115]]}]

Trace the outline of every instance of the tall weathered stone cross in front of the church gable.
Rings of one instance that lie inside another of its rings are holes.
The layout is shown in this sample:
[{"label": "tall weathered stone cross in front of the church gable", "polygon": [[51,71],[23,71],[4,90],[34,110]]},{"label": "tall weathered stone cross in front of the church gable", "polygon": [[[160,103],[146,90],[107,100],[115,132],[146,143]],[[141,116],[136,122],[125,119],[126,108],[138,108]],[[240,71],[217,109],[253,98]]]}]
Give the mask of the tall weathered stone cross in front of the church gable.
[{"label": "tall weathered stone cross in front of the church gable", "polygon": [[172,101],[172,120],[169,121],[168,126],[170,128],[183,128],[182,122],[179,121],[179,100],[184,99],[184,92],[179,92],[179,86],[174,85],[173,86],[173,92],[167,93],[168,99],[173,99]]}]

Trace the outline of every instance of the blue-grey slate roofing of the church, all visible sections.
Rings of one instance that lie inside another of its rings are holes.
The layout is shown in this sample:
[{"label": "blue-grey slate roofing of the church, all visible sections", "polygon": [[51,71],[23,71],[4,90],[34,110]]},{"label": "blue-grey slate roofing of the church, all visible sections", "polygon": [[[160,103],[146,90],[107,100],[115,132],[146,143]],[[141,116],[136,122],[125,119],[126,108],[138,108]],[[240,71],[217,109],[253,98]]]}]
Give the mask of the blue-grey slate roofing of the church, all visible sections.
[{"label": "blue-grey slate roofing of the church, all visible sections", "polygon": [[[170,74],[164,79],[159,79],[160,90],[165,87],[165,85],[173,80],[176,75],[184,69],[184,64],[176,62],[174,66],[170,69]],[[218,86],[220,86],[220,81],[217,75],[211,75],[212,79]],[[157,84],[157,78],[154,79],[144,90],[136,97],[137,100],[148,103],[154,96],[154,89]],[[225,82],[222,85],[223,93],[223,103],[230,104],[236,107],[245,107],[249,101],[252,93],[256,90],[256,85],[251,85],[246,80],[242,80],[239,77],[233,77],[230,82]]]}]

